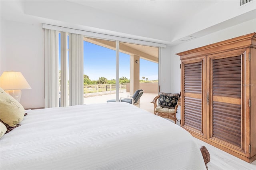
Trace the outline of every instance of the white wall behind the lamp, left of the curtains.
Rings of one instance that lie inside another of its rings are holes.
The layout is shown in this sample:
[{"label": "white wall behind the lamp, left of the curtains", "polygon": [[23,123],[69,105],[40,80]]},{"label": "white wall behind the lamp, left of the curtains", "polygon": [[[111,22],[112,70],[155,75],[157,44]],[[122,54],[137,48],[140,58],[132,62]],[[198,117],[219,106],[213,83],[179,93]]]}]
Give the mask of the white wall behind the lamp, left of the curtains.
[{"label": "white wall behind the lamp, left of the curtains", "polygon": [[20,71],[32,87],[22,90],[24,108],[44,107],[43,42],[41,24],[1,20],[0,71]]}]

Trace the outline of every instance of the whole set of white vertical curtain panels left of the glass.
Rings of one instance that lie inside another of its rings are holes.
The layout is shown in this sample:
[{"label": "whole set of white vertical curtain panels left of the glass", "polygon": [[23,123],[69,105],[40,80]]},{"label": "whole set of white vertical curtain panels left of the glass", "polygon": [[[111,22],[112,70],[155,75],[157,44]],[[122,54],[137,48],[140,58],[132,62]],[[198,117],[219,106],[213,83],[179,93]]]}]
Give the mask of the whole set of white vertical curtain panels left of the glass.
[{"label": "whole set of white vertical curtain panels left of the glass", "polygon": [[[79,34],[44,29],[45,107],[84,104],[84,41]],[[60,68],[59,68],[60,48]],[[69,50],[69,60],[68,60]],[[60,70],[60,75],[59,75]],[[59,85],[60,76],[60,85]],[[69,79],[69,88],[68,88]],[[61,94],[59,92],[61,91]],[[69,94],[68,94],[69,93]],[[59,104],[59,97],[61,102]]]}]

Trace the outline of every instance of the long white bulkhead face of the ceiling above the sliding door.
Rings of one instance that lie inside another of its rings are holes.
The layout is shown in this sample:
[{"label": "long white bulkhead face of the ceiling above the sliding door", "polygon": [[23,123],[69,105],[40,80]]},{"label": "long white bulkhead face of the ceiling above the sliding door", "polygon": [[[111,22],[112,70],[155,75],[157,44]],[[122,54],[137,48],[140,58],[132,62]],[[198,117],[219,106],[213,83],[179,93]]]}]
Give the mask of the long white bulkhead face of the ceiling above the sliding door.
[{"label": "long white bulkhead face of the ceiling above the sliding door", "polygon": [[51,19],[47,20],[45,24],[134,39],[139,38],[140,40],[145,38],[147,41],[152,38],[154,41],[159,40],[159,43],[164,43],[160,40],[170,38],[170,34],[167,34],[168,29],[163,26],[124,18],[121,15],[103,12],[72,1],[22,1],[22,3],[25,14]]}]

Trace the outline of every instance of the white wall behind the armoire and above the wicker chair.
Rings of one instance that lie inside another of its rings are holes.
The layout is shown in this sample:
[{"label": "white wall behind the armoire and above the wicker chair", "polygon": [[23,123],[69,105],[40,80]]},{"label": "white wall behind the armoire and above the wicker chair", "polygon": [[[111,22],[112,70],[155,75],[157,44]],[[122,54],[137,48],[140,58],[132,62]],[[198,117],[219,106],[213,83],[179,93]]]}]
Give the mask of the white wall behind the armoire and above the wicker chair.
[{"label": "white wall behind the armoire and above the wicker chair", "polygon": [[[202,38],[197,38],[176,46],[162,49],[161,56],[161,91],[166,93],[180,93],[180,57],[176,53],[202,47],[212,43],[228,40],[245,34],[256,32],[256,20],[221,30]],[[177,117],[180,119],[180,111]]]}]

